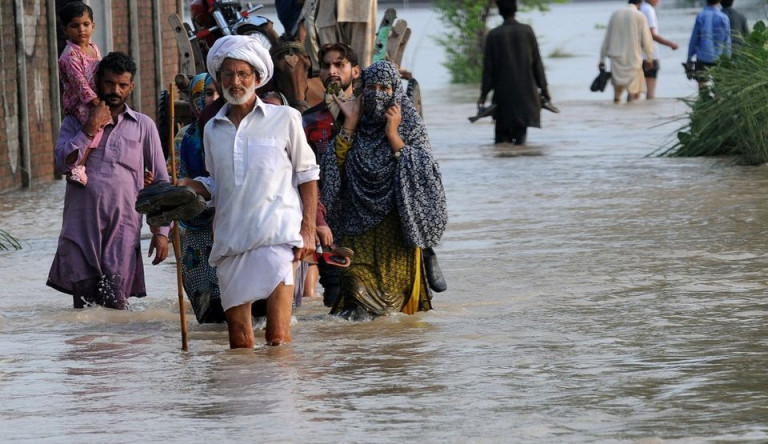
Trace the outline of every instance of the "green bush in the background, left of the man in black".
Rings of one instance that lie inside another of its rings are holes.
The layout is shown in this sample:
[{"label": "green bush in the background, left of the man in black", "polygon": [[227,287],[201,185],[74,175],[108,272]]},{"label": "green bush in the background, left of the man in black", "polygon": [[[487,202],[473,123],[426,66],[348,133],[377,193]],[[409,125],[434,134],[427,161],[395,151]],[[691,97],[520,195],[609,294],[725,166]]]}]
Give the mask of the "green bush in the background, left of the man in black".
[{"label": "green bush in the background, left of the man in black", "polygon": [[[523,0],[518,8],[547,10],[549,3],[566,0]],[[483,53],[487,21],[495,12],[494,0],[434,0],[447,31],[436,37],[445,48],[443,66],[451,73],[453,83],[478,83],[483,74]]]}]

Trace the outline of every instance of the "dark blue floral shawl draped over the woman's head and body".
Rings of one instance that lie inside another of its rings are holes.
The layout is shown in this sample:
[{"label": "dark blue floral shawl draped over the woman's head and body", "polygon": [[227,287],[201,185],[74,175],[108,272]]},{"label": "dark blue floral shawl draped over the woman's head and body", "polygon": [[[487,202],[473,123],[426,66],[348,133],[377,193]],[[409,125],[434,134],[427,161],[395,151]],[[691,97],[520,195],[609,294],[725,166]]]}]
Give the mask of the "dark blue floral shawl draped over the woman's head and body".
[{"label": "dark blue floral shawl draped over the woman's head and body", "polygon": [[[321,197],[328,208],[334,236],[359,235],[397,210],[405,244],[435,246],[448,221],[440,169],[432,157],[427,130],[416,108],[405,95],[397,69],[377,62],[363,71],[363,85],[389,85],[394,94],[363,88],[363,110],[343,175],[333,145],[321,156]],[[405,142],[400,159],[392,156],[385,135],[384,111],[399,103],[398,127]]]}]

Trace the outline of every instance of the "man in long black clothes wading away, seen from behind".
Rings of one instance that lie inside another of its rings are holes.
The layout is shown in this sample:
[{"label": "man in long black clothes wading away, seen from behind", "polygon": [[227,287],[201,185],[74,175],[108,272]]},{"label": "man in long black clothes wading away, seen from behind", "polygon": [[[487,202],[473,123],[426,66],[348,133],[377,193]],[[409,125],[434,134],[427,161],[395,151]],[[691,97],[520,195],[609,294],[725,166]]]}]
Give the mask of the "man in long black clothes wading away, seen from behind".
[{"label": "man in long black clothes wading away, seen from behind", "polygon": [[496,143],[524,145],[527,128],[541,127],[541,99],[550,100],[547,78],[533,29],[515,20],[517,2],[497,0],[504,23],[485,41],[483,85],[478,106],[493,90]]}]

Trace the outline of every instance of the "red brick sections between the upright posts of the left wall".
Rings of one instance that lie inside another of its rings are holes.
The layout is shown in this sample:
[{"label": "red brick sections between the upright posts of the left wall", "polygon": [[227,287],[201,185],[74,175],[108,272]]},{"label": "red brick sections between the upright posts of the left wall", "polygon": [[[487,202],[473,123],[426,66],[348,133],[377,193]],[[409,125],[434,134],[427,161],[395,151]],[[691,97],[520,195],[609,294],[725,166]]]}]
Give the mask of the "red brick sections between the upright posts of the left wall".
[{"label": "red brick sections between the upright posts of the left wall", "polygon": [[[21,1],[21,0],[16,0]],[[21,154],[21,125],[19,83],[17,75],[16,1],[0,0],[0,192],[22,187],[23,159]],[[129,3],[135,0],[112,0],[113,49],[131,53]],[[48,11],[54,0],[21,1],[24,7],[24,55],[27,76],[27,96],[22,100],[28,106],[32,183],[54,179],[53,134],[60,122],[53,122],[49,88],[50,64],[48,54]],[[93,4],[93,3],[92,3]],[[53,6],[52,6],[53,7]],[[98,7],[98,6],[94,6]],[[168,25],[168,14],[175,13],[176,0],[160,1],[161,42],[155,42],[154,19],[151,2],[139,2],[139,51],[134,58],[140,66],[141,112],[155,117],[158,91],[155,88],[155,66],[162,66],[163,84],[173,81],[178,71],[178,51],[175,37]],[[162,47],[162,60],[155,60],[155,45]],[[56,67],[54,67],[55,69]]]}]

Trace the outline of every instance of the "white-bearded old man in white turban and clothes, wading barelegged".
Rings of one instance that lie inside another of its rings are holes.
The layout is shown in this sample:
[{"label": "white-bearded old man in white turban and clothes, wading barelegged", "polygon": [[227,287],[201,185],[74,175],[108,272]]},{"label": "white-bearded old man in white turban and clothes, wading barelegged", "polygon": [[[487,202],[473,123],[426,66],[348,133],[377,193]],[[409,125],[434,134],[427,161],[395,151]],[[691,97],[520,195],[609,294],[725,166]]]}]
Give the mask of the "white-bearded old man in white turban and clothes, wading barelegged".
[{"label": "white-bearded old man in white turban and clothes, wading barelegged", "polygon": [[297,261],[315,250],[319,168],[301,114],[256,94],[272,58],[247,36],[218,39],[208,70],[227,103],[205,125],[207,178],[183,179],[216,207],[209,262],[217,267],[231,348],[252,348],[251,304],[267,300],[266,341],[290,342]]}]

